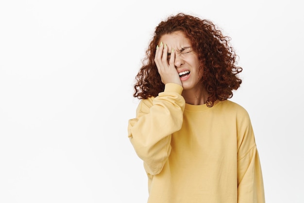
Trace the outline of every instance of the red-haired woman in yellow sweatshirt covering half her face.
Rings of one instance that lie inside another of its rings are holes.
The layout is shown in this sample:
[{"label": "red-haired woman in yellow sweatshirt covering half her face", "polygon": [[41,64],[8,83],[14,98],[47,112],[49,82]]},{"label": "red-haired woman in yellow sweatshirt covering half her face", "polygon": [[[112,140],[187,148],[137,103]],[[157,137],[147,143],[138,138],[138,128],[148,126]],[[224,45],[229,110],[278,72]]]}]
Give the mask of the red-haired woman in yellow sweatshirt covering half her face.
[{"label": "red-haired woman in yellow sweatshirt covering half her face", "polygon": [[180,13],[159,23],[146,54],[128,136],[148,175],[148,203],[264,203],[250,117],[228,100],[242,71],[229,37]]}]

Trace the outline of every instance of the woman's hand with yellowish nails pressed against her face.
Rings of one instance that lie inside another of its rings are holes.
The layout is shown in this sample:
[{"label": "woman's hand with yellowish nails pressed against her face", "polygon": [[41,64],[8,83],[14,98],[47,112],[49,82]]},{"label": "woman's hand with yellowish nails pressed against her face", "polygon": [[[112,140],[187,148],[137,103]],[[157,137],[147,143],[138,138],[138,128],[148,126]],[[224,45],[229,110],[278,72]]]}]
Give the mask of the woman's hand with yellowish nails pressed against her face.
[{"label": "woman's hand with yellowish nails pressed against her face", "polygon": [[162,82],[165,85],[167,83],[176,83],[180,86],[183,86],[180,76],[178,75],[174,65],[174,49],[172,49],[169,55],[170,59],[168,63],[168,46],[166,44],[163,44],[163,42],[161,42],[159,46],[157,45],[154,61],[158,69],[158,73],[160,74],[160,77],[162,79]]}]

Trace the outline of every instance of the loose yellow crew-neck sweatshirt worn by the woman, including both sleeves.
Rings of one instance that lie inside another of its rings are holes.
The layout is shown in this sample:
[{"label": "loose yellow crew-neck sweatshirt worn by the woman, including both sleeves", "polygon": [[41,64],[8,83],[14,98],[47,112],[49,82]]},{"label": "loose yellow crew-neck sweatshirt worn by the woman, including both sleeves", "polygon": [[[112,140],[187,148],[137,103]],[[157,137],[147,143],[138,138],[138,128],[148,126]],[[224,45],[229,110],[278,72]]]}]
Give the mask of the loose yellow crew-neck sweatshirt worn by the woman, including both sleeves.
[{"label": "loose yellow crew-neck sweatshirt worn by the woman, including both sleeves", "polygon": [[169,83],[143,99],[128,136],[148,175],[148,203],[265,203],[247,111],[225,100],[189,105]]}]

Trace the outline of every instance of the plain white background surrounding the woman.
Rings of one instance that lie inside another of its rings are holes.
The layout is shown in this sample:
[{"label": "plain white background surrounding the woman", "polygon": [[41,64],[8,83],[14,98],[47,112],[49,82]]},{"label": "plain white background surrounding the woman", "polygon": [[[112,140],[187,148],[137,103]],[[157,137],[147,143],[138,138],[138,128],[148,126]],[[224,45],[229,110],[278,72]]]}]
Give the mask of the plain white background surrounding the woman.
[{"label": "plain white background surrounding the woman", "polygon": [[304,203],[304,15],[297,0],[1,0],[0,203],[144,203],[127,137],[157,24],[185,12],[232,37],[267,203]]}]

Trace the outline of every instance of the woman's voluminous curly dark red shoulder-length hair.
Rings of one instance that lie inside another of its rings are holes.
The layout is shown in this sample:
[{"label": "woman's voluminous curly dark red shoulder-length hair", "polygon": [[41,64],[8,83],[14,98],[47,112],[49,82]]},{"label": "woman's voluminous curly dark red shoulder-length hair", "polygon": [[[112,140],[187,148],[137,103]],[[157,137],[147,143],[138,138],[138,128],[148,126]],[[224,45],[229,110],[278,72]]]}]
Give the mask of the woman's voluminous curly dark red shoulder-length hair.
[{"label": "woman's voluminous curly dark red shoulder-length hair", "polygon": [[189,38],[192,48],[198,54],[203,68],[201,85],[209,93],[207,106],[212,107],[217,100],[223,101],[233,96],[242,82],[237,74],[242,71],[237,67],[236,53],[230,46],[230,37],[222,32],[210,20],[200,19],[179,13],[162,21],[155,29],[154,36],[142,61],[142,67],[135,77],[134,97],[146,99],[156,97],[163,92],[165,85],[161,81],[154,56],[156,46],[163,35],[182,31]]}]

